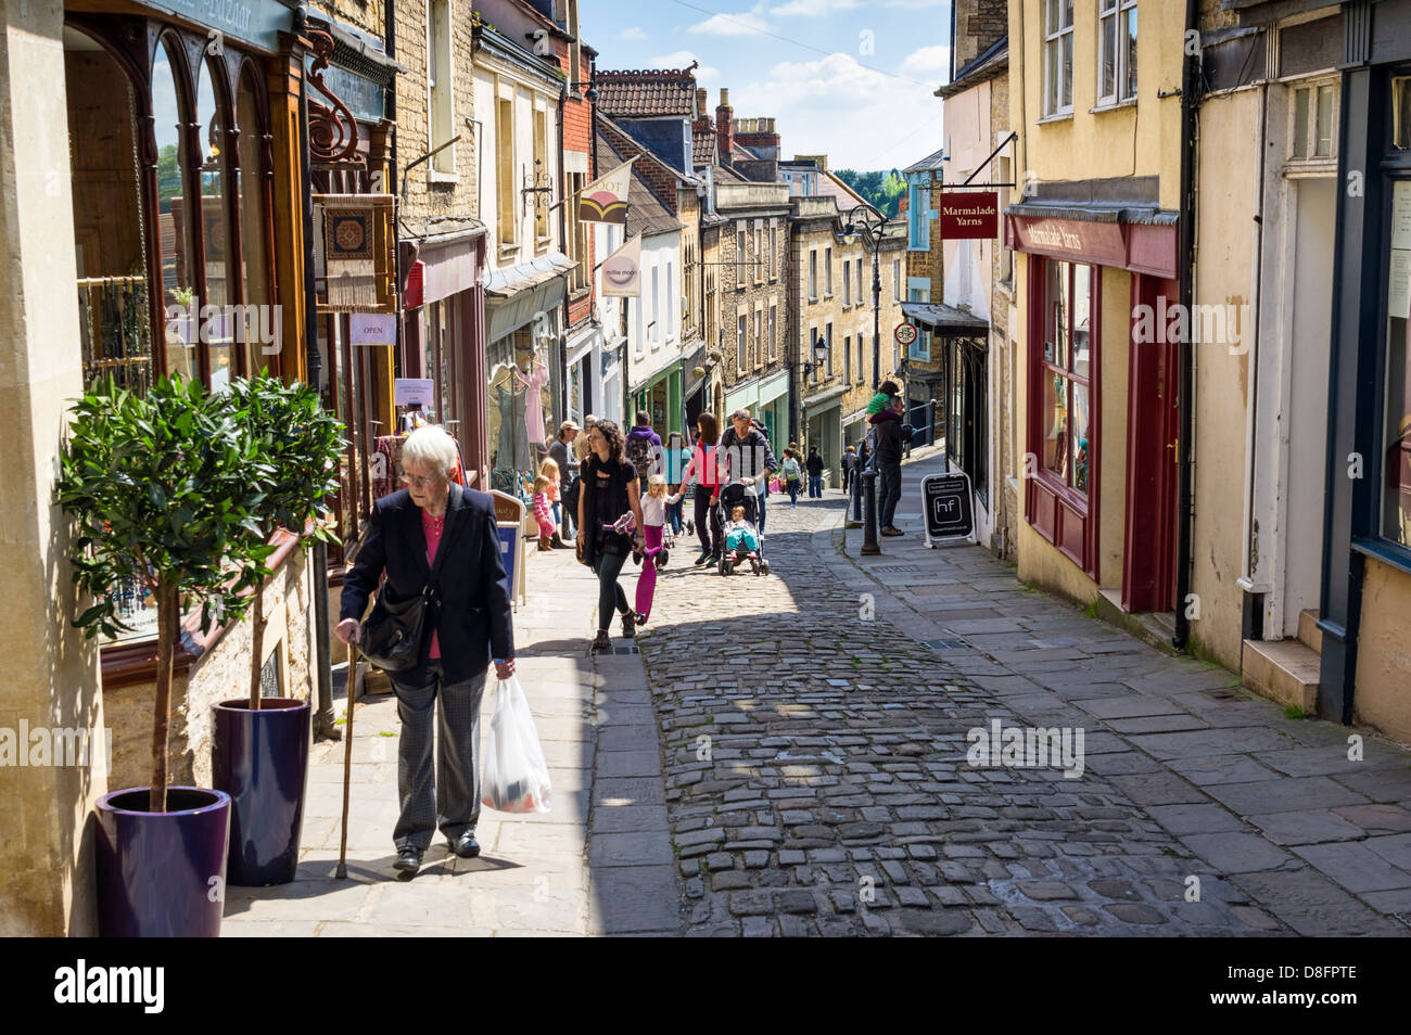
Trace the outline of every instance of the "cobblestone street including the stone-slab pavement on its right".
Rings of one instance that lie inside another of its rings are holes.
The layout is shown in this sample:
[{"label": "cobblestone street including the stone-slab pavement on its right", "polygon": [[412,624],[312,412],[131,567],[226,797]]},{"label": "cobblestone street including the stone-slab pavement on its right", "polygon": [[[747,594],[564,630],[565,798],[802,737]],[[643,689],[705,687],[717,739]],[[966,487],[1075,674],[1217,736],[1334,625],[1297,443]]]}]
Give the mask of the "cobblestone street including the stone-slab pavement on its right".
[{"label": "cobblestone street including the stone-slab pavement on its right", "polygon": [[[779,499],[769,577],[683,549],[639,635],[689,933],[1407,933],[1404,749],[1349,761],[917,515],[859,561],[840,494]],[[995,721],[1082,728],[1085,770],[969,766]]]}]

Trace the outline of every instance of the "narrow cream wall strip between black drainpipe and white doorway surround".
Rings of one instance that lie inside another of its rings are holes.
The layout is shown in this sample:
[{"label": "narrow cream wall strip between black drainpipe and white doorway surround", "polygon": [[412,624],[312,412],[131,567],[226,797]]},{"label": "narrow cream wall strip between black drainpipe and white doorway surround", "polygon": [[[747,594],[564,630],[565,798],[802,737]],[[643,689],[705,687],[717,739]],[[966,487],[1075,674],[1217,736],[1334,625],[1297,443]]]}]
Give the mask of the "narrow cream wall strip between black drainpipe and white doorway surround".
[{"label": "narrow cream wall strip between black drainpipe and white doorway surround", "polygon": [[1191,592],[1199,598],[1199,619],[1191,622],[1191,642],[1221,664],[1239,670],[1245,595],[1236,580],[1243,563],[1246,423],[1253,391],[1253,327],[1245,326],[1253,323],[1249,316],[1253,309],[1242,312],[1239,306],[1253,305],[1259,92],[1211,97],[1201,107],[1199,120],[1194,303],[1235,306],[1242,337],[1194,345]]}]

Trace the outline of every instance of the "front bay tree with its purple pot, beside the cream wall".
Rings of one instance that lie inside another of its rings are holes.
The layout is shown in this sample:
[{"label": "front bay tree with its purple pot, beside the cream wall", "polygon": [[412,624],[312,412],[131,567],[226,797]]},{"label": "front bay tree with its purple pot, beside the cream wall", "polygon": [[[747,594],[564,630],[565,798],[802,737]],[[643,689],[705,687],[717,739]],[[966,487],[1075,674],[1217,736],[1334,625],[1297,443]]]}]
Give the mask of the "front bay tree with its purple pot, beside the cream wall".
[{"label": "front bay tree with its purple pot, beside the cream wall", "polygon": [[157,601],[151,780],[99,800],[99,928],[107,936],[216,936],[224,904],[230,797],[168,787],[172,660],[182,616],[237,619],[274,551],[254,540],[272,471],[234,400],[168,375],[145,395],[111,378],[72,408],[55,502],[73,519],[73,581],[93,604],[89,637],[126,630],[111,592],[135,575]]}]

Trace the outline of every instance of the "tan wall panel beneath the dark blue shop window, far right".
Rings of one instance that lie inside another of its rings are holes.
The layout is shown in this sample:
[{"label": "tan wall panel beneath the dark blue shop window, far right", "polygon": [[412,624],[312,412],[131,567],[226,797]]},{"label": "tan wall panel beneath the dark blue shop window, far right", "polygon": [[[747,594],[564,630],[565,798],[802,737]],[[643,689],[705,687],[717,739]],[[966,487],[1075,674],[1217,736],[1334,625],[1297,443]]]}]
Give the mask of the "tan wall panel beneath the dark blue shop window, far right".
[{"label": "tan wall panel beneath the dark blue shop window, far right", "polygon": [[1367,558],[1353,721],[1411,743],[1411,575]]}]

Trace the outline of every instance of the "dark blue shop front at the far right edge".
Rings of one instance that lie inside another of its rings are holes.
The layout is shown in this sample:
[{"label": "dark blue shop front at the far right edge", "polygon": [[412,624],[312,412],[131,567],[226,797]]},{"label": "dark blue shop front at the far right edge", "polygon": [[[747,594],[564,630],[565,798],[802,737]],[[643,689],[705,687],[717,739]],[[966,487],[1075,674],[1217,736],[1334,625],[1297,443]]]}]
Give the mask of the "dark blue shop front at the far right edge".
[{"label": "dark blue shop front at the far right edge", "polygon": [[1346,7],[1318,711],[1411,742],[1411,8]]}]

